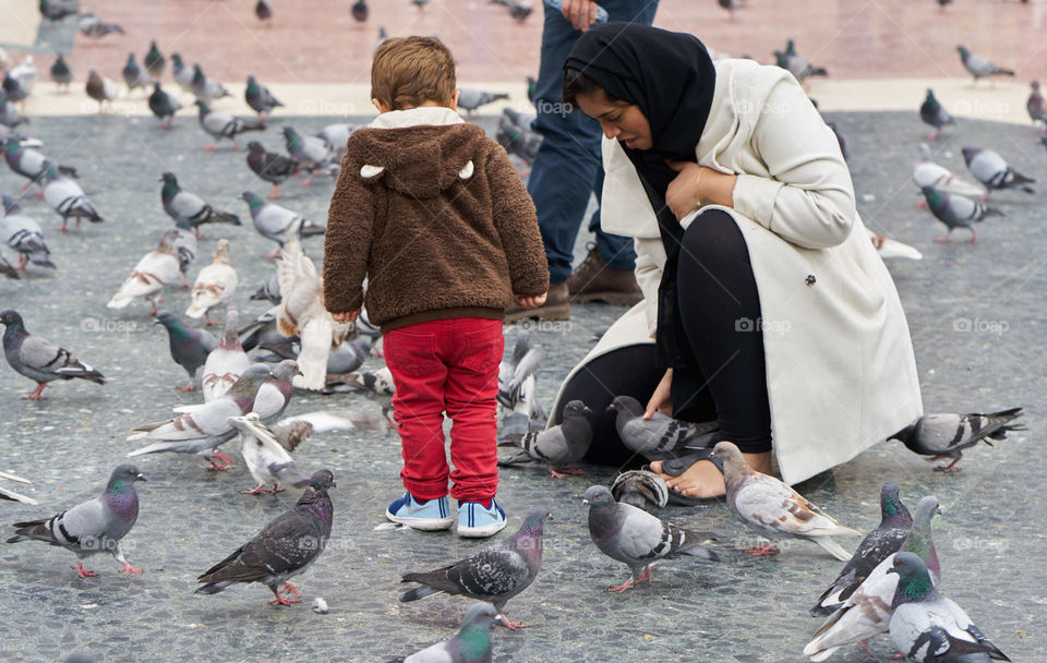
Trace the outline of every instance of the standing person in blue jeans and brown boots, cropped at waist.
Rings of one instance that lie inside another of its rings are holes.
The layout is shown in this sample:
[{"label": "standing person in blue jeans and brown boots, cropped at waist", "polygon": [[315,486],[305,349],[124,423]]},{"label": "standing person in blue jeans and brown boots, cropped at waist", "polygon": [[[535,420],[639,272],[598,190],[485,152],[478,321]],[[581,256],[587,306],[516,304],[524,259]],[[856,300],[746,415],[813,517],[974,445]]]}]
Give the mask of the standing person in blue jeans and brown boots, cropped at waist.
[{"label": "standing person in blue jeans and brown boots, cropped at waist", "polygon": [[[601,0],[611,21],[650,25],[658,0]],[[631,305],[642,299],[633,274],[636,253],[633,239],[600,229],[599,207],[589,219],[595,241],[575,273],[575,239],[593,192],[603,189],[600,158],[600,123],[563,103],[564,62],[571,47],[597,20],[592,0],[564,0],[562,12],[545,9],[542,55],[534,92],[537,119],[532,124],[542,138],[531,167],[527,191],[538,209],[545,257],[549,261],[549,299],[530,311],[510,309],[506,321],[539,316],[570,316],[570,301],[604,301]],[[573,111],[573,112],[571,112]]]}]

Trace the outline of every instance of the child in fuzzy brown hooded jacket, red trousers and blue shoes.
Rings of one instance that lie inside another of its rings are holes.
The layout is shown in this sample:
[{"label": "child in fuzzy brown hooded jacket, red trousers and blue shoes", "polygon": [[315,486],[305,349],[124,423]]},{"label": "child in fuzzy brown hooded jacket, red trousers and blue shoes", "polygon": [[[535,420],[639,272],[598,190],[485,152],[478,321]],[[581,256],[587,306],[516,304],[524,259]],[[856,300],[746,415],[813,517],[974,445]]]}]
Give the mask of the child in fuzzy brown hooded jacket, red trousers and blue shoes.
[{"label": "child in fuzzy brown hooded jacket, red trousers and blue shoes", "polygon": [[[505,150],[456,112],[455,63],[432,37],[388,39],[371,68],[380,116],[349,137],[324,240],[324,304],[382,328],[407,489],[386,517],[420,530],[505,527],[495,395],[506,306],[545,301],[549,267]],[[368,278],[364,296],[361,287]],[[454,421],[448,471],[444,412]]]}]

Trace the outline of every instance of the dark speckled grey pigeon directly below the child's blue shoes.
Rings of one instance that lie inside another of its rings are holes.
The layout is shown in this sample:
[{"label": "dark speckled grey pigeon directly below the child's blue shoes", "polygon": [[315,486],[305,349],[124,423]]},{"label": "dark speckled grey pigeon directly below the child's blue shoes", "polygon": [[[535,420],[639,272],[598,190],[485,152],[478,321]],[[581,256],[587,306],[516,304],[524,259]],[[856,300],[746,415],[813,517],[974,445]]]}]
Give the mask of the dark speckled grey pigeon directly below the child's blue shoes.
[{"label": "dark speckled grey pigeon directly below the child's blue shoes", "polygon": [[441,592],[489,601],[506,627],[522,628],[524,624],[505,617],[505,604],[538,577],[542,568],[542,528],[550,518],[549,511],[531,511],[515,534],[471,557],[432,571],[404,574],[401,582],[418,582],[420,587],[404,592],[400,601],[418,601]]}]

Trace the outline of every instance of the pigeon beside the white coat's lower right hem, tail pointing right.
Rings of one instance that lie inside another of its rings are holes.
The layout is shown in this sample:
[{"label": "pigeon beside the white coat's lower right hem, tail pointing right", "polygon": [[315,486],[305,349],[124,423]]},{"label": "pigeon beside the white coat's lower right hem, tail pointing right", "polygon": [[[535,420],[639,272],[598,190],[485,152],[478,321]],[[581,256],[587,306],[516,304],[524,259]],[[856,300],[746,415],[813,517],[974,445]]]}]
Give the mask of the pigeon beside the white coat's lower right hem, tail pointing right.
[{"label": "pigeon beside the white coat's lower right hem, tail pointing right", "polygon": [[1011,423],[1022,414],[1022,408],[986,414],[924,414],[912,425],[892,435],[891,439],[902,442],[914,454],[930,456],[929,460],[952,458],[948,466],[935,469],[941,472],[958,471],[955,465],[963,458],[963,449],[979,442],[994,446],[990,439],[998,442],[1006,439],[1010,432],[1024,431],[1024,426]]}]

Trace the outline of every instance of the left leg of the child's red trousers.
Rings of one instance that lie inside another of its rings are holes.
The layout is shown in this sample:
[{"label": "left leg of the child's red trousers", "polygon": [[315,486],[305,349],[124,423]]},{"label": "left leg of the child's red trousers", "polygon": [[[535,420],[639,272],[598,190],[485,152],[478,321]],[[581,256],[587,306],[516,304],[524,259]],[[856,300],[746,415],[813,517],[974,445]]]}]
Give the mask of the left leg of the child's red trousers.
[{"label": "left leg of the child's red trousers", "polygon": [[393,374],[394,419],[399,424],[404,487],[418,499],[447,494],[444,450],[444,383],[438,354],[443,321],[408,325],[385,334],[385,360]]}]

